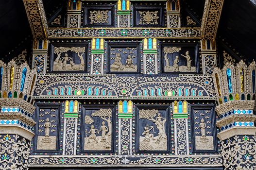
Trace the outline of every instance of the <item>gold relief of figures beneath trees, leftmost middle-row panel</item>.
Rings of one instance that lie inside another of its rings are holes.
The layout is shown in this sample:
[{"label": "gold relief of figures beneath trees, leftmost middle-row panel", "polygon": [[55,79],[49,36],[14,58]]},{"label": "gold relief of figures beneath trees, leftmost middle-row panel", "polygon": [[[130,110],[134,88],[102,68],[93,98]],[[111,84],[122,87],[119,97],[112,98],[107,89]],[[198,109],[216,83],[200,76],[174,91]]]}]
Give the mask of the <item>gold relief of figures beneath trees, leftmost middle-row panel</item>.
[{"label": "gold relief of figures beneath trees, leftmost middle-row panel", "polygon": [[[65,53],[61,57],[63,52],[72,51],[77,54],[80,59],[80,64],[74,63],[74,57],[69,57],[68,53]],[[54,53],[57,54],[57,58],[53,62],[53,71],[67,71],[67,70],[85,70],[85,61],[83,55],[85,54],[85,47],[54,47]]]}]

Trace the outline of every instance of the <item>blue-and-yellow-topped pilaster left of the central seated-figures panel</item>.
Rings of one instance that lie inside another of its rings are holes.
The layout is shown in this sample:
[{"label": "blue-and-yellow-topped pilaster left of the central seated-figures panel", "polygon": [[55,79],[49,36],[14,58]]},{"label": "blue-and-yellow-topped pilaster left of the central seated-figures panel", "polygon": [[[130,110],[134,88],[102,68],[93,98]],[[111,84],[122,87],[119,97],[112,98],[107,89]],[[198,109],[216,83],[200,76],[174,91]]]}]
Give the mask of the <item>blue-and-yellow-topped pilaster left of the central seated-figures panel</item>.
[{"label": "blue-and-yellow-topped pilaster left of the central seated-figures panel", "polygon": [[93,38],[91,40],[91,74],[104,73],[104,39]]}]

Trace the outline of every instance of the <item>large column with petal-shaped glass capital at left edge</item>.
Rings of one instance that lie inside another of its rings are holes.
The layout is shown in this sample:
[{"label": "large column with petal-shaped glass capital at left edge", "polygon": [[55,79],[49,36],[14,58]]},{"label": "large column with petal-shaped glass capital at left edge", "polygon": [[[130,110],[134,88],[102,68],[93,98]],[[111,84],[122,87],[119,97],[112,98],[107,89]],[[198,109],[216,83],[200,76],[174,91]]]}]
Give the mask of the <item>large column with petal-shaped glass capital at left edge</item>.
[{"label": "large column with petal-shaped glass capital at left edge", "polygon": [[36,69],[0,61],[0,169],[28,170]]}]

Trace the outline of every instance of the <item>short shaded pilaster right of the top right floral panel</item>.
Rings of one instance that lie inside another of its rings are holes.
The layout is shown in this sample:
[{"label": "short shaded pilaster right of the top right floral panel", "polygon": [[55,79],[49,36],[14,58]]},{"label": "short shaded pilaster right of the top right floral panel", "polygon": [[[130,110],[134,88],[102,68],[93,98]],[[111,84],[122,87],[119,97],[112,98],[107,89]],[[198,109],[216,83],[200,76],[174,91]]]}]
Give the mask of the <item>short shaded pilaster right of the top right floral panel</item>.
[{"label": "short shaded pilaster right of the top right floral panel", "polygon": [[166,2],[167,9],[167,27],[180,28],[180,0],[168,0]]}]

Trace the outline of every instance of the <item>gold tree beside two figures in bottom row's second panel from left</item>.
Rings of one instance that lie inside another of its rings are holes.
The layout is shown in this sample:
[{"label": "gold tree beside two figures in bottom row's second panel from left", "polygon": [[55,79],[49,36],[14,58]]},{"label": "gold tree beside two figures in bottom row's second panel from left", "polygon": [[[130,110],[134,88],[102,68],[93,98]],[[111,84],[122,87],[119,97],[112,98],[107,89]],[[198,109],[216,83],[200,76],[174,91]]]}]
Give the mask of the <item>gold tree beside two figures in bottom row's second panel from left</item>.
[{"label": "gold tree beside two figures in bottom row's second panel from left", "polygon": [[98,116],[107,122],[108,128],[109,128],[107,136],[110,136],[111,132],[112,132],[112,122],[111,122],[112,110],[111,109],[100,109],[100,110],[97,110],[96,112],[92,113],[91,116],[92,117]]}]

